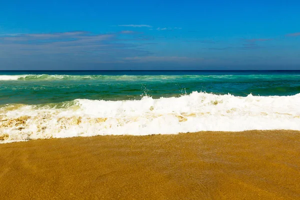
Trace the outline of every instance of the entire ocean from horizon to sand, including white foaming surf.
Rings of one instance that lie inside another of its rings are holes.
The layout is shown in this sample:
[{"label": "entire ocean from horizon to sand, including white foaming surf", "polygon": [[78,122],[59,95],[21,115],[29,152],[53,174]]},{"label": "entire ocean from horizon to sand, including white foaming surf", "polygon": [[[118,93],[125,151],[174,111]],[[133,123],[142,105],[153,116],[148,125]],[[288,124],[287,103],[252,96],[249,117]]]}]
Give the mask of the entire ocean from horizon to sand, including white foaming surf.
[{"label": "entire ocean from horizon to sand, including white foaming surf", "polygon": [[300,130],[300,71],[0,71],[0,143]]}]

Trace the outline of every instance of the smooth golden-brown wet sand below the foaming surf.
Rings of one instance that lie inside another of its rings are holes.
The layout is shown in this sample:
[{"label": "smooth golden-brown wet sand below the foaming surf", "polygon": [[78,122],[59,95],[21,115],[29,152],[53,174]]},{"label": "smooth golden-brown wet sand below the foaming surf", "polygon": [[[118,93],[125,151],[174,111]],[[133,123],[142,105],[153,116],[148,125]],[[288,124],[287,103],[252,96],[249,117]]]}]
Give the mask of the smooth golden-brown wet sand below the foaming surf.
[{"label": "smooth golden-brown wet sand below the foaming surf", "polygon": [[0,199],[300,199],[300,131],[0,144]]}]

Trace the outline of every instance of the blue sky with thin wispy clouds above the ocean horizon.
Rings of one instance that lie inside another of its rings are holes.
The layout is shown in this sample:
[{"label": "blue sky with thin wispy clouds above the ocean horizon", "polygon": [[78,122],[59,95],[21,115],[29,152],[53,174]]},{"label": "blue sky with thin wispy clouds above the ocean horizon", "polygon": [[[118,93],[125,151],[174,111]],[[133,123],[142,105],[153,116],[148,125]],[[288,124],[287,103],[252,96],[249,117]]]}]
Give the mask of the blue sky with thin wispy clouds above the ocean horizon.
[{"label": "blue sky with thin wispy clouds above the ocean horizon", "polygon": [[0,70],[300,70],[299,0],[0,1]]}]

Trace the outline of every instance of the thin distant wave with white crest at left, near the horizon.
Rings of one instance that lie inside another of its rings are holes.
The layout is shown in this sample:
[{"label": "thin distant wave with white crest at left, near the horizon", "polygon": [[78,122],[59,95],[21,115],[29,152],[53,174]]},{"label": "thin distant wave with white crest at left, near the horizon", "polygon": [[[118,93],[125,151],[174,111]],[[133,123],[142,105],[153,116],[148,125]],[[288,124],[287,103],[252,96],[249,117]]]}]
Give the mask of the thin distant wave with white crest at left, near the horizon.
[{"label": "thin distant wave with white crest at left, near the horizon", "polygon": [[251,74],[251,75],[67,75],[67,74],[21,74],[21,75],[0,75],[2,80],[88,80],[88,79],[111,79],[111,80],[163,80],[163,79],[272,79],[272,78],[292,78],[298,79],[299,74]]}]

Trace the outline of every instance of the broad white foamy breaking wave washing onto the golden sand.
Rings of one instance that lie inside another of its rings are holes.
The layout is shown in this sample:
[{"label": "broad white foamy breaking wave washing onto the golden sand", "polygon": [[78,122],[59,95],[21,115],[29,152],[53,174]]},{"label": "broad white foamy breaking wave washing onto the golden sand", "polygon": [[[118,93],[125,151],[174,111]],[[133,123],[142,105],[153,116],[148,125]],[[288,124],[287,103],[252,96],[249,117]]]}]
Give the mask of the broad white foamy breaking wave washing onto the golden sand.
[{"label": "broad white foamy breaking wave washing onto the golden sand", "polygon": [[[76,99],[65,108],[0,108],[0,142],[91,135],[175,134],[201,130],[300,130],[300,94],[246,97],[192,92],[141,100]],[[2,135],[2,136],[1,136]]]}]

